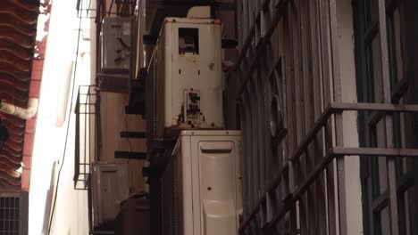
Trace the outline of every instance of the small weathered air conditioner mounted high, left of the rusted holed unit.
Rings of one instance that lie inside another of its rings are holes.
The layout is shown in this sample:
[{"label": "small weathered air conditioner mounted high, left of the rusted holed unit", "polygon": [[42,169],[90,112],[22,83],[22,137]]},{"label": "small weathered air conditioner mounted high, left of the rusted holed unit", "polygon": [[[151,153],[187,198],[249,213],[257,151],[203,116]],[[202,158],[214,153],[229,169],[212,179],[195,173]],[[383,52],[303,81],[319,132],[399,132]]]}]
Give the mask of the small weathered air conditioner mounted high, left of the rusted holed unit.
[{"label": "small weathered air conditioner mounted high, left of the rusted holed unit", "polygon": [[130,17],[107,17],[100,34],[104,73],[128,73],[130,71]]}]

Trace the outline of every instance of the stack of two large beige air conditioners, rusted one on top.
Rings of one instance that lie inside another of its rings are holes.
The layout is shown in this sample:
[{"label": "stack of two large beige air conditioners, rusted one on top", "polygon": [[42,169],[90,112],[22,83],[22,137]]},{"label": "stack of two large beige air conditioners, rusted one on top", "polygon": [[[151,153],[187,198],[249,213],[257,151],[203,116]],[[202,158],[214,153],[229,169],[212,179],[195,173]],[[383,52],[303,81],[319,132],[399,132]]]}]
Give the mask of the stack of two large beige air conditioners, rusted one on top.
[{"label": "stack of two large beige air conditioners, rusted one on top", "polygon": [[148,143],[180,136],[163,172],[164,235],[238,234],[241,137],[222,130],[222,24],[208,9],[164,20],[147,71]]}]

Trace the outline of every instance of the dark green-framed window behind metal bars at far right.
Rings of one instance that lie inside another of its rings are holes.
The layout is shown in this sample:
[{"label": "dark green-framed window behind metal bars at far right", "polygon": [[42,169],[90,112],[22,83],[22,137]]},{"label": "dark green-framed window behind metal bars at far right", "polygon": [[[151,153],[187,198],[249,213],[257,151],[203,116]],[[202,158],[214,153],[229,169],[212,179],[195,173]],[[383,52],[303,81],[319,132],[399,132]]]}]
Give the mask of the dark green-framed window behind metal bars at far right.
[{"label": "dark green-framed window behind metal bars at far right", "polygon": [[[388,53],[389,85],[392,103],[412,103],[408,99],[408,77],[405,77],[405,50],[403,45],[405,32],[411,30],[405,24],[408,1],[355,0],[355,53],[357,69],[357,91],[360,102],[381,102],[384,100],[382,87],[381,58]],[[380,49],[379,3],[386,4],[387,52]],[[416,87],[414,87],[416,88]],[[409,87],[409,92],[413,92]],[[393,145],[395,148],[407,148],[413,139],[409,134],[411,114],[393,114]],[[376,118],[375,112],[359,113],[359,137],[363,147],[384,147],[385,123],[383,118]],[[413,146],[409,145],[409,148]],[[414,146],[416,147],[416,146]],[[393,215],[389,212],[389,181],[396,178],[397,194],[397,231],[401,235],[416,234],[414,228],[414,162],[411,158],[396,158],[396,173],[388,172],[387,158],[362,158],[362,188],[364,204],[364,234],[390,234]]]}]

